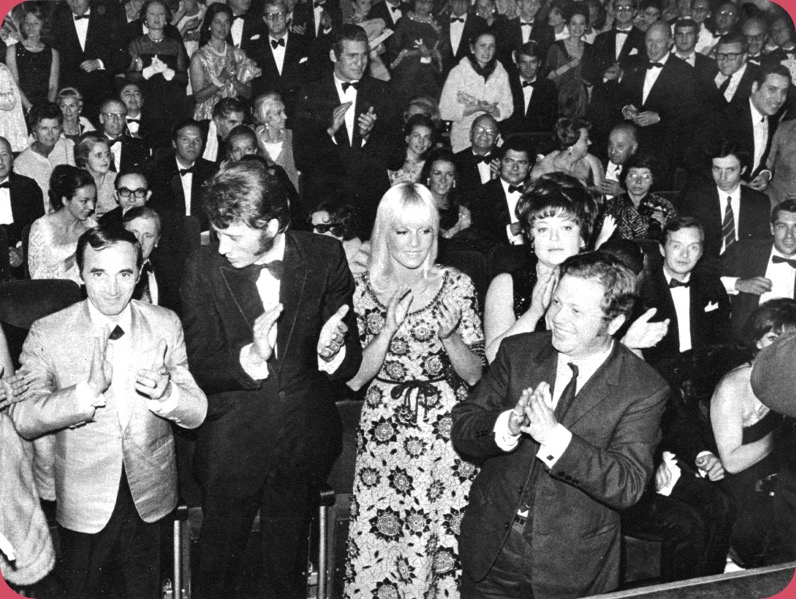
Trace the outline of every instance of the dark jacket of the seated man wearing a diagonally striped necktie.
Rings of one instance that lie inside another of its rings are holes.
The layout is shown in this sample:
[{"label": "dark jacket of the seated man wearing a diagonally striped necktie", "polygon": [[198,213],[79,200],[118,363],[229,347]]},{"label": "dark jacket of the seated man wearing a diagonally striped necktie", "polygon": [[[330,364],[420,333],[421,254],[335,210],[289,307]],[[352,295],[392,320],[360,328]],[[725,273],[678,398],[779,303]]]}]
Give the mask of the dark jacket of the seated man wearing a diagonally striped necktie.
[{"label": "dark jacket of the seated man wearing a diagonally striped necktie", "polygon": [[[715,185],[689,188],[680,206],[680,213],[695,216],[705,231],[705,254],[702,260],[718,260],[723,241],[721,225],[724,214]],[[741,208],[738,215],[738,241],[742,239],[771,239],[771,202],[768,196],[741,185]],[[737,242],[736,242],[737,243]],[[732,247],[732,246],[730,246]]]}]

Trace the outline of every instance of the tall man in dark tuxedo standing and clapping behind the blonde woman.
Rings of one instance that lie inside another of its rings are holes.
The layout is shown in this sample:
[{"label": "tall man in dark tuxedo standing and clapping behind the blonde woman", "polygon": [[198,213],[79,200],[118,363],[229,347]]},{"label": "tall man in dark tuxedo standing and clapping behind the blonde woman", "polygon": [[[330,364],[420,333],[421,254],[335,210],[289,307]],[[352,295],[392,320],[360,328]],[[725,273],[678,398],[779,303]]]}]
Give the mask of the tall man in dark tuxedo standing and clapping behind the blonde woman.
[{"label": "tall man in dark tuxedo standing and clapping behind the blonde woman", "polygon": [[342,26],[330,57],[333,72],[305,86],[296,109],[293,151],[305,177],[304,211],[312,212],[313,198],[341,190],[356,207],[357,234],[368,239],[389,188],[398,112],[389,86],[366,76],[368,38],[361,27]]}]

